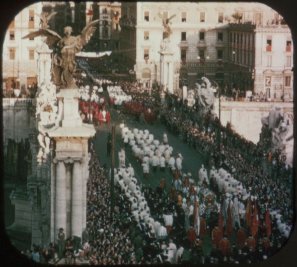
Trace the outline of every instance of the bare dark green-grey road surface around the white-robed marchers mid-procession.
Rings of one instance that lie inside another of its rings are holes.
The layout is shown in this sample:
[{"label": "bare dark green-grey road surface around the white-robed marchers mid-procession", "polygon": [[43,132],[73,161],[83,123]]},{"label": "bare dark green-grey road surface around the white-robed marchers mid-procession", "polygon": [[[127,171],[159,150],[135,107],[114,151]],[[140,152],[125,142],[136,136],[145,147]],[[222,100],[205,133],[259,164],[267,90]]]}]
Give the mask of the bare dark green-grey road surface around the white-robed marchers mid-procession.
[{"label": "bare dark green-grey road surface around the white-robed marchers mid-procession", "polygon": [[[108,99],[108,97],[106,97]],[[107,156],[107,137],[108,133],[111,132],[112,125],[114,125],[115,121],[118,117],[118,112],[114,108],[106,106],[107,110],[111,114],[111,123],[109,124],[99,124],[95,126],[96,128],[96,136],[94,140],[94,149],[99,156],[100,163],[103,166],[106,164],[107,169],[109,170],[111,167],[111,157]],[[138,128],[138,129],[148,129],[150,133],[153,133],[154,139],[158,139],[162,142],[163,132],[165,131],[168,136],[168,144],[173,147],[173,156],[176,156],[178,153],[181,153],[183,156],[182,161],[182,171],[184,173],[190,172],[192,174],[192,178],[194,178],[195,182],[197,183],[198,180],[198,171],[203,164],[202,156],[198,153],[197,150],[190,148],[187,144],[185,144],[181,139],[169,133],[166,129],[165,125],[160,125],[159,127],[151,124],[140,124],[135,119],[133,119],[130,115],[125,114],[125,123],[130,128]],[[118,164],[118,151],[124,147],[123,140],[121,138],[121,129],[119,128],[119,124],[121,121],[117,122],[116,126],[116,138],[115,138],[115,168],[119,167]],[[162,177],[166,180],[166,192],[169,191],[172,181],[172,174],[169,171],[169,168],[166,168],[165,172],[161,172],[159,169],[154,173],[152,168],[150,168],[150,175],[148,179],[145,179],[142,174],[142,167],[136,161],[134,156],[131,154],[131,150],[129,145],[125,149],[125,165],[126,167],[130,163],[134,168],[135,177],[138,180],[139,185],[145,185],[146,187],[152,187],[156,189],[159,184],[159,181]],[[208,173],[208,166],[204,166]],[[212,240],[210,238],[210,233],[207,230],[208,235],[203,238],[203,253],[206,255],[210,252],[212,247]],[[233,234],[230,237],[231,244],[236,242],[236,233],[233,231]]]}]

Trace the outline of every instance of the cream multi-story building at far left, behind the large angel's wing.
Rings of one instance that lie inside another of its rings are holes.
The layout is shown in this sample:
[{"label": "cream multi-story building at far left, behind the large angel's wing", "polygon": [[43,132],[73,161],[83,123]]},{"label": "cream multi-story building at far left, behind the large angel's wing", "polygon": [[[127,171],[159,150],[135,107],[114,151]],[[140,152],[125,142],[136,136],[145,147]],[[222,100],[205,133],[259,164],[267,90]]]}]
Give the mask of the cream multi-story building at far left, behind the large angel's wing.
[{"label": "cream multi-story building at far left, behind the large angel's wing", "polygon": [[[42,4],[36,3],[18,13],[7,29],[3,44],[3,82],[5,95],[11,93],[12,84],[25,93],[25,89],[37,82],[37,52],[40,38],[22,39],[39,28]],[[14,82],[13,82],[14,81]]]}]

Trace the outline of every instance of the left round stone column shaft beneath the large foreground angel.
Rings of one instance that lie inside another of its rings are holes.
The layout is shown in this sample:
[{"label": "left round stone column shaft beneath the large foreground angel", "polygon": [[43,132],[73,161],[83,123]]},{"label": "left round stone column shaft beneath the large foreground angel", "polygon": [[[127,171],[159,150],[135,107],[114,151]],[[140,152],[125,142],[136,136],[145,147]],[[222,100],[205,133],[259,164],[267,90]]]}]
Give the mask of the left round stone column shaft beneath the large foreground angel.
[{"label": "left round stone column shaft beneath the large foreground angel", "polygon": [[66,167],[59,160],[56,165],[56,198],[55,198],[55,236],[59,228],[66,233]]}]

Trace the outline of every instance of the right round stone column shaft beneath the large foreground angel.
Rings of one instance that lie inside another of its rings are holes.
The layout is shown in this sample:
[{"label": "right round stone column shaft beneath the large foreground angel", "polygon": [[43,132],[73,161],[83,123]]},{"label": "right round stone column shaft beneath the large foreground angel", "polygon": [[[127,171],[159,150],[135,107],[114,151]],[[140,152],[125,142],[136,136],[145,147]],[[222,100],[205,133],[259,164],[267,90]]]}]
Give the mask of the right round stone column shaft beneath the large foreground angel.
[{"label": "right round stone column shaft beneath the large foreground angel", "polygon": [[82,190],[82,164],[80,161],[73,163],[72,190],[71,190],[71,235],[81,236],[83,232],[83,190]]}]

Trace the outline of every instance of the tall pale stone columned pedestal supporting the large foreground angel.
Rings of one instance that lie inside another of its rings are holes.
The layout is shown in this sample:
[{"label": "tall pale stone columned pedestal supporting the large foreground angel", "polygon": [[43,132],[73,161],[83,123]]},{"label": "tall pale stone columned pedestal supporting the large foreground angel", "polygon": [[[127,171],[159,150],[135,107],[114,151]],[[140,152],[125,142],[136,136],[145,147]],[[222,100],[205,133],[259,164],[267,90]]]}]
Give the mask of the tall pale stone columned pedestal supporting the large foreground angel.
[{"label": "tall pale stone columned pedestal supporting the large foreground angel", "polygon": [[79,115],[78,89],[61,89],[57,94],[57,125],[49,130],[54,141],[51,175],[51,241],[59,228],[65,235],[82,236],[86,228],[88,140],[96,130]]}]

